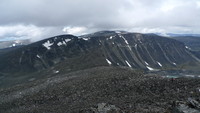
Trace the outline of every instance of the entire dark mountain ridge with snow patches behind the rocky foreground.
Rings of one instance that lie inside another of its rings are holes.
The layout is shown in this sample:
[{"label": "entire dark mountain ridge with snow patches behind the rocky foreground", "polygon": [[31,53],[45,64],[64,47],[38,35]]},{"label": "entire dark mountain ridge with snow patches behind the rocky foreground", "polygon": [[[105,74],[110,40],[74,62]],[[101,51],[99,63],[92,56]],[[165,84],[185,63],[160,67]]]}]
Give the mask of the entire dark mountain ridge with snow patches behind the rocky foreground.
[{"label": "entire dark mountain ridge with snow patches behind the rocky foreground", "polygon": [[183,43],[154,34],[60,35],[0,55],[0,85],[109,65],[150,71],[190,69],[198,68],[199,59]]}]

